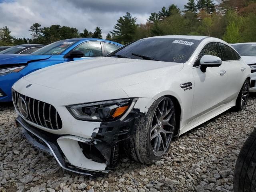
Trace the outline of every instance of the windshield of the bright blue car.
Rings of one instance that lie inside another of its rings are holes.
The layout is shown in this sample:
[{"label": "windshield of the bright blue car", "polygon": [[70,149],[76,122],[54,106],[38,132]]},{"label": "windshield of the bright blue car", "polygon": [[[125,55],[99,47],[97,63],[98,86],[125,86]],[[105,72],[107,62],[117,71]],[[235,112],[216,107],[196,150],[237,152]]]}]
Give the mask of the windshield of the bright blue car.
[{"label": "windshield of the bright blue car", "polygon": [[59,55],[78,40],[61,40],[38,49],[31,55]]}]

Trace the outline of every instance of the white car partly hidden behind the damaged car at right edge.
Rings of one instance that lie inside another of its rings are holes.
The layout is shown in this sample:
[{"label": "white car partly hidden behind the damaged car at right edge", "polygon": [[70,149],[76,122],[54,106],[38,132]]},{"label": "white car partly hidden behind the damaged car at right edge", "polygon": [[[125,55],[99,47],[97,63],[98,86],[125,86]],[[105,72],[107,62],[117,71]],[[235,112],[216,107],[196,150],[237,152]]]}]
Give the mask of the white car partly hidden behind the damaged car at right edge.
[{"label": "white car partly hidden behind the damaged car at right edge", "polygon": [[242,59],[252,70],[250,92],[256,92],[256,43],[236,43],[232,47],[241,55]]}]

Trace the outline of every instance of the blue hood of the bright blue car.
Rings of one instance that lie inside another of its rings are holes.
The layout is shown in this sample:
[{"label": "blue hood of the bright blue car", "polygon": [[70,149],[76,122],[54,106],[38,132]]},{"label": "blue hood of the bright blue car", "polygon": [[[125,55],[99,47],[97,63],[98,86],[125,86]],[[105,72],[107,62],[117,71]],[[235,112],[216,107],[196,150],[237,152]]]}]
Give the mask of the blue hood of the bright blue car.
[{"label": "blue hood of the bright blue car", "polygon": [[0,66],[6,64],[26,64],[36,60],[45,60],[52,55],[0,54]]}]

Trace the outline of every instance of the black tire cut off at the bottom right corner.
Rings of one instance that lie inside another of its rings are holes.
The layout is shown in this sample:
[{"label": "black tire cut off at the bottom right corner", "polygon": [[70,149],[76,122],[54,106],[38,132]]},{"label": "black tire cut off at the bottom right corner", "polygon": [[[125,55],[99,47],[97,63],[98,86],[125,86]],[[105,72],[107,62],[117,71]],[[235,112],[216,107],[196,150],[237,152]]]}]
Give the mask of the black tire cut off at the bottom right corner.
[{"label": "black tire cut off at the bottom right corner", "polygon": [[256,191],[256,129],[244,143],[236,161],[234,192]]}]

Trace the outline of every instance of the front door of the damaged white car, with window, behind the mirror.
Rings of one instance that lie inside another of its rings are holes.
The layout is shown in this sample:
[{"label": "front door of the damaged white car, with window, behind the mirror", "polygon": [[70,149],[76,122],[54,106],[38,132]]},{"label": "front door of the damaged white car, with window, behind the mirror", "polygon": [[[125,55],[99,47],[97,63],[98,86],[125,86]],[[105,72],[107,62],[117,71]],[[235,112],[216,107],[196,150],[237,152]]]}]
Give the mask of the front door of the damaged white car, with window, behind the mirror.
[{"label": "front door of the damaged white car, with window, behind the mirror", "polygon": [[224,100],[227,84],[227,74],[225,68],[208,67],[206,72],[200,69],[200,59],[204,55],[222,57],[222,52],[217,42],[210,42],[200,52],[192,68],[194,76],[194,98],[192,104],[192,119],[198,118],[207,112],[220,106]]}]

